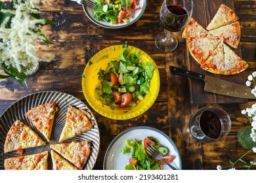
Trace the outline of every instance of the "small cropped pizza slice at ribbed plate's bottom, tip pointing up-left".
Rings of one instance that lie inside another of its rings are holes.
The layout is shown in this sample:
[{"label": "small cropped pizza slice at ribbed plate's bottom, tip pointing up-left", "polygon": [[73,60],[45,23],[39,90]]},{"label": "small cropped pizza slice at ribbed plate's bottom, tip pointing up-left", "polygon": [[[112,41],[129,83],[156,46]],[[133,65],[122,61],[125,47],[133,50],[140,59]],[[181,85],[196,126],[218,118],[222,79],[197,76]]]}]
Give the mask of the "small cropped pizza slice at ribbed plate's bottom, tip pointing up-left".
[{"label": "small cropped pizza slice at ribbed plate's bottom, tip pointing up-left", "polygon": [[78,170],[77,167],[72,165],[62,156],[51,150],[51,158],[53,160],[53,170]]}]

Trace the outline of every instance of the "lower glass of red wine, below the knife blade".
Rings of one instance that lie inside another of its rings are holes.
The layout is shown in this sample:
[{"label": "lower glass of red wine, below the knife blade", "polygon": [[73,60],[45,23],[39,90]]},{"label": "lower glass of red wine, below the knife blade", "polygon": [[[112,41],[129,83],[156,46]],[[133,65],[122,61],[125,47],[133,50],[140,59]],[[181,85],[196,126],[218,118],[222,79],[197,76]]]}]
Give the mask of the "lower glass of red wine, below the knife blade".
[{"label": "lower glass of red wine, below the knife blade", "polygon": [[228,135],[231,120],[226,111],[219,107],[203,107],[190,118],[189,131],[202,143],[217,142]]}]

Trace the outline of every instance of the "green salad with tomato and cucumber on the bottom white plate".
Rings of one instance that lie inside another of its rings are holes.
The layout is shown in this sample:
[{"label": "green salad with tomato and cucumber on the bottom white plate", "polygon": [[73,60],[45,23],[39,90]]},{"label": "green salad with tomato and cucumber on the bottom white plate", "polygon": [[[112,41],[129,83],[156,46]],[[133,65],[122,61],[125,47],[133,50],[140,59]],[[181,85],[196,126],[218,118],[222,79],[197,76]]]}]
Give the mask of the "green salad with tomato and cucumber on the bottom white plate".
[{"label": "green salad with tomato and cucumber on the bottom white plate", "polygon": [[171,163],[175,156],[168,155],[169,149],[160,144],[160,141],[154,137],[146,137],[144,140],[126,140],[125,147],[119,149],[119,153],[127,154],[131,153],[131,158],[129,158],[129,163],[125,166],[125,170],[160,170],[160,165],[164,165],[162,161],[156,160],[149,156],[145,148],[148,148],[148,144],[151,144],[157,148],[163,158]]}]

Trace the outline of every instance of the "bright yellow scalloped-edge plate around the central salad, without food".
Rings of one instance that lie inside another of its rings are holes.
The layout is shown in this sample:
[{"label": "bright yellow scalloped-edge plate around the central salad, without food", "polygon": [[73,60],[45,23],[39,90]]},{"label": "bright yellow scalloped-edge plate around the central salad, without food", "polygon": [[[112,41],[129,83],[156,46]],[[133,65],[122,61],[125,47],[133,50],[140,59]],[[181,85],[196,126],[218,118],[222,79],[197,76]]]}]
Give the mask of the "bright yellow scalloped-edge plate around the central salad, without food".
[{"label": "bright yellow scalloped-edge plate around the central salad, without food", "polygon": [[146,110],[153,105],[158,97],[160,90],[160,75],[156,63],[152,58],[150,58],[150,56],[148,56],[148,54],[139,48],[135,48],[133,46],[129,46],[129,48],[131,49],[130,53],[139,51],[142,62],[150,62],[156,67],[150,82],[150,92],[145,95],[144,99],[140,101],[137,106],[131,108],[116,108],[112,110],[108,105],[102,105],[100,101],[95,99],[95,88],[96,84],[99,82],[97,75],[98,71],[100,68],[105,70],[112,58],[119,58],[119,55],[124,50],[122,45],[110,46],[96,53],[95,56],[91,58],[89,63],[87,63],[85,70],[83,71],[84,77],[82,79],[82,87],[85,99],[96,112],[102,116],[105,116],[106,118],[114,120],[127,120],[135,118],[146,112]]}]

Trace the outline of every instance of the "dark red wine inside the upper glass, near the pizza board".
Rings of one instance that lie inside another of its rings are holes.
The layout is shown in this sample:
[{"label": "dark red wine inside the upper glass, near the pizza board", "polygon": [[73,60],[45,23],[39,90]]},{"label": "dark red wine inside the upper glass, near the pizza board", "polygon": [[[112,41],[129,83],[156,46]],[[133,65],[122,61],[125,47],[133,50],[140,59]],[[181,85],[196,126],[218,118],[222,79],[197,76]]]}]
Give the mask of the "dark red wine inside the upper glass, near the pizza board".
[{"label": "dark red wine inside the upper glass, near the pizza board", "polygon": [[161,24],[169,31],[180,31],[182,25],[188,21],[188,11],[179,5],[170,5],[167,9],[169,13],[163,12],[161,14]]}]

